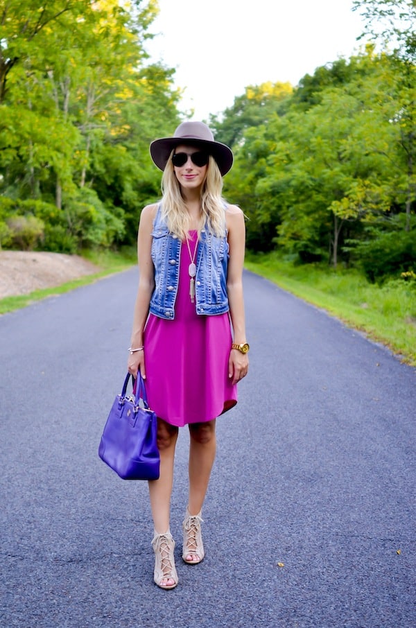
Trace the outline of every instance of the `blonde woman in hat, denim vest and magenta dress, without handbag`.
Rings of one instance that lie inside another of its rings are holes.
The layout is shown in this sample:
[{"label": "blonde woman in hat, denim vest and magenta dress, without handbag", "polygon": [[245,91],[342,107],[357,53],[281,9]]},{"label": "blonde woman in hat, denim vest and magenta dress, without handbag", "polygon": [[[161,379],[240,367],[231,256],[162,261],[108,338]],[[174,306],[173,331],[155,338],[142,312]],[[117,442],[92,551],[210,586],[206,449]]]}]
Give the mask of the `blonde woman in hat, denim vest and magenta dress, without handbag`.
[{"label": "blonde woman in hat, denim vest and magenta dress, without handbag", "polygon": [[150,144],[163,171],[162,202],[140,216],[139,288],[128,371],[146,378],[157,414],[159,480],[149,482],[155,583],[177,586],[170,532],[178,428],[189,426],[189,502],[183,560],[205,556],[202,505],[216,453],[216,417],[236,404],[248,372],[243,304],[243,212],[221,197],[232,151],[202,122],[184,122]]}]

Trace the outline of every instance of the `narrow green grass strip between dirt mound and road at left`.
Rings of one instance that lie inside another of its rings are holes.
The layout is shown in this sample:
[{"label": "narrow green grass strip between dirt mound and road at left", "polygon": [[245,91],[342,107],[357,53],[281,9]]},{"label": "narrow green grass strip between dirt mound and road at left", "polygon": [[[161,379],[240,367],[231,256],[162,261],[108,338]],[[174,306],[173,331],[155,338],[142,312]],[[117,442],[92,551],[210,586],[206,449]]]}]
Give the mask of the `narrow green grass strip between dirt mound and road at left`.
[{"label": "narrow green grass strip between dirt mound and road at left", "polygon": [[88,261],[94,263],[99,269],[98,272],[94,274],[87,274],[84,277],[80,277],[80,279],[67,281],[66,284],[55,286],[55,288],[45,288],[44,290],[35,290],[28,295],[19,295],[17,297],[5,297],[4,299],[0,299],[0,314],[6,314],[8,312],[24,308],[31,303],[40,301],[46,297],[62,295],[74,288],[79,288],[80,286],[93,284],[94,281],[101,279],[101,277],[107,277],[109,274],[121,272],[122,270],[131,268],[132,265],[137,263],[137,252],[133,248],[125,249],[118,253],[110,251],[85,251],[82,253],[82,256]]}]

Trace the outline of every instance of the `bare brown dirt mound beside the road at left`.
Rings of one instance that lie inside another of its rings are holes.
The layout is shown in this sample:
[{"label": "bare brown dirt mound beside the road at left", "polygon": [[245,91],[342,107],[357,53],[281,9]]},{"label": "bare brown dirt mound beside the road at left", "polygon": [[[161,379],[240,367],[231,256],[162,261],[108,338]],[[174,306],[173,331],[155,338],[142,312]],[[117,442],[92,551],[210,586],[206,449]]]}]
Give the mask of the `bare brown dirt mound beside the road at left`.
[{"label": "bare brown dirt mound beside the road at left", "polygon": [[55,288],[98,270],[78,255],[0,251],[0,299]]}]

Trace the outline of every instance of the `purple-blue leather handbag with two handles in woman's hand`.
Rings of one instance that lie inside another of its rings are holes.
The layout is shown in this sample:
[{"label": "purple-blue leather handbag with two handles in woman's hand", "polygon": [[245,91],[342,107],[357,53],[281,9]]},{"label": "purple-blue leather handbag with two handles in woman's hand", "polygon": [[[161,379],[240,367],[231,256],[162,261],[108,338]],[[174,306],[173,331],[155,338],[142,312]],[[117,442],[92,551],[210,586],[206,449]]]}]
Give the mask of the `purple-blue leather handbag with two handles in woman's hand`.
[{"label": "purple-blue leather handbag with two handles in woman's hand", "polygon": [[148,406],[141,374],[137,375],[135,397],[126,395],[129,379],[130,373],[108,415],[98,455],[123,480],[157,480],[157,417]]}]

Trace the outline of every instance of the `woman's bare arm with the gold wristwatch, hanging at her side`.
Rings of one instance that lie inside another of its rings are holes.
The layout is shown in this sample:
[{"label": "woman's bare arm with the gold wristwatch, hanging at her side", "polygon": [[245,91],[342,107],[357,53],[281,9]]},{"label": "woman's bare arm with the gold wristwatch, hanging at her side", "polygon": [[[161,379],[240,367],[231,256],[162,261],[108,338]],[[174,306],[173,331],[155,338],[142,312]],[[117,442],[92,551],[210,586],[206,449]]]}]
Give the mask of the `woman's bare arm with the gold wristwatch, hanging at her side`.
[{"label": "woman's bare arm with the gold wristwatch, hanging at her side", "polygon": [[[244,215],[236,205],[227,207],[227,229],[229,261],[227,273],[227,293],[229,316],[232,322],[234,342],[242,344],[245,337],[245,314],[243,298],[243,265],[245,253]],[[229,354],[229,377],[233,383],[245,377],[248,372],[248,356],[238,349],[231,349]]]}]

